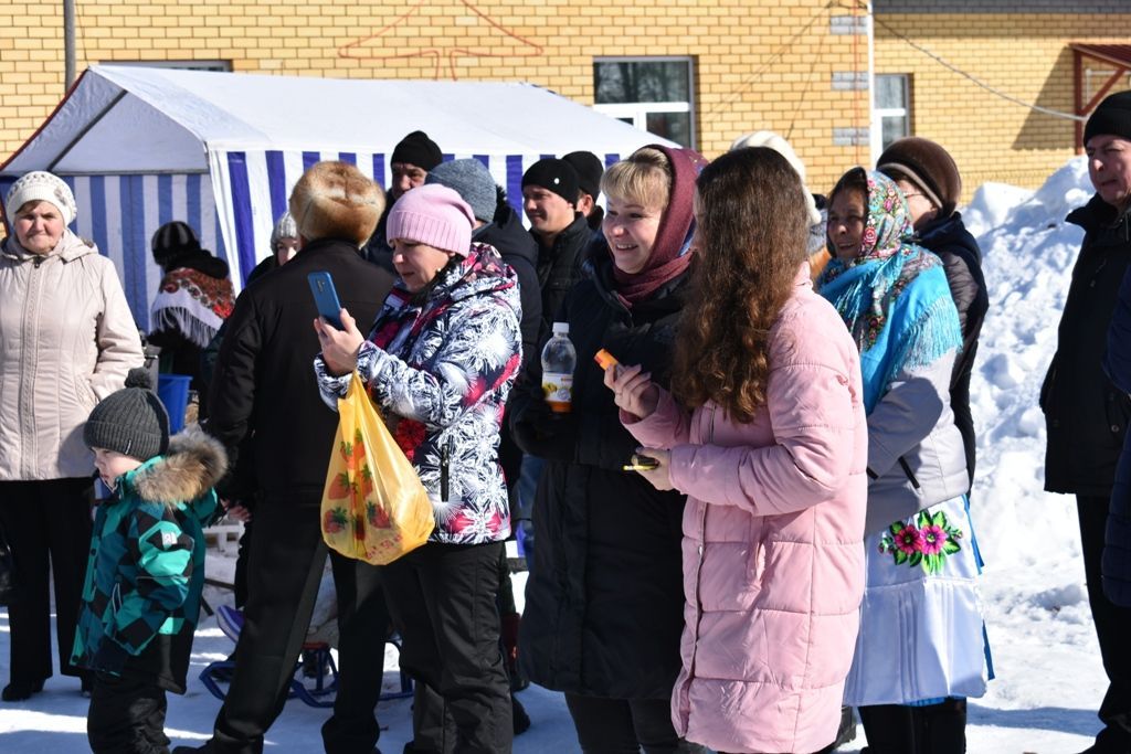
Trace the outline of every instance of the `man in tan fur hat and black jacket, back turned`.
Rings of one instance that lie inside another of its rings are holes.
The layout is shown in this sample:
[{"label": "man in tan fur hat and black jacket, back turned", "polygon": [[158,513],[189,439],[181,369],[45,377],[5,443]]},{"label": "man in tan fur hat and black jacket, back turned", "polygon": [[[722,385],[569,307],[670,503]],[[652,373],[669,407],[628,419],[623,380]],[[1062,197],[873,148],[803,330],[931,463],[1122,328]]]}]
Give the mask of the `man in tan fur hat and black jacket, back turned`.
[{"label": "man in tan fur hat and black jacket, back turned", "polygon": [[[335,197],[336,198],[331,198]],[[385,207],[380,189],[346,163],[312,166],[291,194],[302,249],[250,286],[228,320],[213,376],[208,432],[227,448],[234,471],[219,492],[241,499],[241,480],[260,492],[248,565],[248,604],[227,699],[211,740],[198,751],[258,754],[286,700],[326,564],[319,508],[337,416],[314,380],[318,317],[307,276],[328,271],[343,306],[371,322],[392,276],[357,252]],[[250,437],[251,458],[238,457]],[[340,671],[326,751],[369,754],[378,738],[388,616],[378,569],[330,554],[338,597]]]}]

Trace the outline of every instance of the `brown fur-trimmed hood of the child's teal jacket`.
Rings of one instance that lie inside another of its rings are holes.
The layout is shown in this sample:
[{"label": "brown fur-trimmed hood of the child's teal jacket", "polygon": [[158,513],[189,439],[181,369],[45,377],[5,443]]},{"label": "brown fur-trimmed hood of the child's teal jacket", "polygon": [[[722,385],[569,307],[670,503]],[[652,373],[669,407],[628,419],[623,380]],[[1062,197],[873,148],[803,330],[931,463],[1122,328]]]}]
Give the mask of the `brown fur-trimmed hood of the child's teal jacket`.
[{"label": "brown fur-trimmed hood of the child's teal jacket", "polygon": [[226,471],[224,447],[192,424],[170,437],[169,450],[138,468],[130,483],[143,500],[174,505],[197,500]]}]

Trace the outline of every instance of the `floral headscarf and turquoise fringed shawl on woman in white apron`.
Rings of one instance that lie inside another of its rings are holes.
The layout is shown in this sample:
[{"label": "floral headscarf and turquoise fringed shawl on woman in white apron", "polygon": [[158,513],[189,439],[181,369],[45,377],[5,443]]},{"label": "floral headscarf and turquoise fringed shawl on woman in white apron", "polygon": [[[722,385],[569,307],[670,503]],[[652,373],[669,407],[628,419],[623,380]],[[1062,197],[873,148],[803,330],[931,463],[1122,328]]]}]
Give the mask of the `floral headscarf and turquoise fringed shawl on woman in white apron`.
[{"label": "floral headscarf and turquoise fringed shawl on woman in white apron", "polygon": [[962,345],[942,262],[912,243],[913,233],[899,189],[869,171],[861,253],[834,259],[817,279],[818,293],[840,312],[860,348],[869,413],[899,372],[925,366]]}]

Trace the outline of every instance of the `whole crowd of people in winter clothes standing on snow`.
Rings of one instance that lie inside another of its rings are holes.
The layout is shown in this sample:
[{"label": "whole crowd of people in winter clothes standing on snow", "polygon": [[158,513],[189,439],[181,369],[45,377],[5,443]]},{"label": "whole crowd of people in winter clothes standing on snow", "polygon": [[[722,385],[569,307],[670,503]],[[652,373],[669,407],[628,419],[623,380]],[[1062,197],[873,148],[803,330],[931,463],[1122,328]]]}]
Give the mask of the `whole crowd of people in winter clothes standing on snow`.
[{"label": "whole crowd of people in winter clothes standing on snow", "polygon": [[[1087,751],[1125,754],[1131,92],[1096,109],[1082,146],[1096,194],[1069,217],[1087,235],[1039,402],[1111,682]],[[45,172],[12,185],[3,701],[52,675],[50,573],[92,749],[167,752],[204,529],[226,512],[247,522],[227,694],[211,738],[173,752],[264,751],[327,562],[330,754],[377,751],[394,634],[415,682],[406,753],[509,752],[527,682],[564,694],[586,754],[832,752],[854,714],[869,754],[965,752],[967,699],[993,677],[969,406],[988,297],[947,150],[897,140],[827,196],[768,131],[713,162],[651,145],[606,168],[577,151],[524,174],[529,231],[478,161],[444,162],[423,131],[390,168],[386,192],[347,163],[311,166],[239,297],[191,227],[157,231],[148,340],[201,395],[200,423],[172,436],[112,262],[67,228],[70,189]],[[314,271],[340,327],[318,314]],[[577,355],[567,411],[543,391],[553,323]],[[383,566],[321,536],[353,380],[435,523]],[[110,494],[92,515],[95,477]]]}]

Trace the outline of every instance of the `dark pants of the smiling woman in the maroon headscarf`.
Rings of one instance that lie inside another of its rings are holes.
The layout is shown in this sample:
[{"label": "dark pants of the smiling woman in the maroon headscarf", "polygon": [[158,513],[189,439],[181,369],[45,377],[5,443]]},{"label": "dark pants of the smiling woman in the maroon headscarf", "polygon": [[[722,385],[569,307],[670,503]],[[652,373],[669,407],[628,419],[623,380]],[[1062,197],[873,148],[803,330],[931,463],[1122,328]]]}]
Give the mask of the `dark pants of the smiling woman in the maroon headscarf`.
[{"label": "dark pants of the smiling woman in the maroon headscarf", "polygon": [[585,754],[705,752],[675,734],[666,699],[602,699],[566,694],[566,705]]}]

